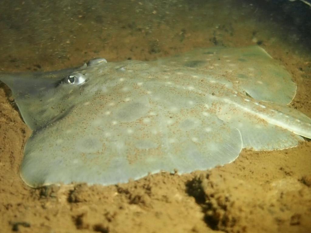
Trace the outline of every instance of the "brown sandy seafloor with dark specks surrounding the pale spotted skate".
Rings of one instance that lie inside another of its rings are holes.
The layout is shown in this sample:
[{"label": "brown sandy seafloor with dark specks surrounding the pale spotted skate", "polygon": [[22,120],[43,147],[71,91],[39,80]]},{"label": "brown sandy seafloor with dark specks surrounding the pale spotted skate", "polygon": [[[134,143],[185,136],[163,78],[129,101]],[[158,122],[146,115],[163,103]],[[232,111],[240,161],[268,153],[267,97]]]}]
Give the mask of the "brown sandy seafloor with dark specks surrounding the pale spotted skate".
[{"label": "brown sandy seafloor with dark specks surrounding the pale spotted skate", "polygon": [[[93,57],[151,60],[259,44],[297,83],[290,106],[310,117],[311,9],[272,2],[5,0],[0,69],[51,71]],[[19,176],[30,133],[0,84],[0,232],[311,232],[310,141],[243,150],[231,164],[192,174],[32,189]]]}]

